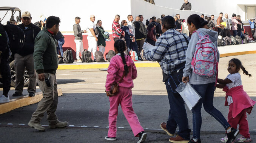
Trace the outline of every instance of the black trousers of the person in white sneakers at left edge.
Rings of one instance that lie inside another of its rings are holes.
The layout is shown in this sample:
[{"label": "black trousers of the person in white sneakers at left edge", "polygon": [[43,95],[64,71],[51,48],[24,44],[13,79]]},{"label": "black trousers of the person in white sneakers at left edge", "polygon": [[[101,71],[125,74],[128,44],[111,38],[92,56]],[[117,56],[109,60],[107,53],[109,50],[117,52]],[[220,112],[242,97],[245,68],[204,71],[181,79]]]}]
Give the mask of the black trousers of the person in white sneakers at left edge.
[{"label": "black trousers of the person in white sneakers at left edge", "polygon": [[10,71],[10,61],[9,57],[0,57],[0,73],[3,80],[3,95],[8,95],[9,90],[11,89],[11,71]]}]

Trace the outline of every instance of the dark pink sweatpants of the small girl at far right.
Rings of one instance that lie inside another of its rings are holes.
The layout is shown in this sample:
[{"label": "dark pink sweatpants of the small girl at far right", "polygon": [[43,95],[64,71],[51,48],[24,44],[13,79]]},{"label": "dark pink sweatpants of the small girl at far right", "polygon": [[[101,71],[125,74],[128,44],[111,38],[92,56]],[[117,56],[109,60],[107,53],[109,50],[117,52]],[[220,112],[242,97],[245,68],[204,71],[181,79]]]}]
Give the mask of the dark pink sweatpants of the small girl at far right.
[{"label": "dark pink sweatpants of the small girl at far right", "polygon": [[233,109],[233,103],[229,105],[229,111],[228,111],[228,123],[231,127],[237,128],[237,125],[239,124],[239,131],[240,134],[243,135],[245,138],[250,138],[249,133],[249,125],[247,121],[247,115],[246,115],[246,109],[244,109],[241,113],[239,113],[236,117],[232,117],[232,109]]}]

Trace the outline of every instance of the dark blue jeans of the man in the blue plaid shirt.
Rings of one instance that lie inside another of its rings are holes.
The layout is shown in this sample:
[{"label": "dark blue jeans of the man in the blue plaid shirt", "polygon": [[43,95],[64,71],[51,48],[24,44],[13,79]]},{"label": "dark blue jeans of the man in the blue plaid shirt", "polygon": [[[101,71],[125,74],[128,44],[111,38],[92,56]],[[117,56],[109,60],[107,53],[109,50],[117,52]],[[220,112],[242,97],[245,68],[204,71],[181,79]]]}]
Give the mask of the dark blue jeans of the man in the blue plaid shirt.
[{"label": "dark blue jeans of the man in the blue plaid shirt", "polygon": [[180,94],[175,90],[182,81],[182,76],[183,69],[180,69],[179,72],[173,72],[170,78],[165,82],[170,104],[166,128],[171,134],[174,134],[177,126],[179,126],[177,134],[185,140],[190,140],[191,129],[188,127],[185,103]]}]

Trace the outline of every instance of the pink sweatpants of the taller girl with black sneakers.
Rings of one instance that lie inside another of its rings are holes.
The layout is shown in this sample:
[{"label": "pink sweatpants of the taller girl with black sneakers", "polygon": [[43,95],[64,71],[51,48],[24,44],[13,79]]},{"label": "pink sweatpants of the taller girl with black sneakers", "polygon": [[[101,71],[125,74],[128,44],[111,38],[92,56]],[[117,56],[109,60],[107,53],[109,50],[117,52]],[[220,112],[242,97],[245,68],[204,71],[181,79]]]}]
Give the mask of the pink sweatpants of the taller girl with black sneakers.
[{"label": "pink sweatpants of the taller girl with black sneakers", "polygon": [[116,120],[118,106],[121,105],[123,114],[133,130],[135,137],[144,129],[140,125],[137,115],[133,111],[132,92],[130,88],[118,87],[119,92],[109,97],[109,114],[108,114],[108,137],[116,137]]}]

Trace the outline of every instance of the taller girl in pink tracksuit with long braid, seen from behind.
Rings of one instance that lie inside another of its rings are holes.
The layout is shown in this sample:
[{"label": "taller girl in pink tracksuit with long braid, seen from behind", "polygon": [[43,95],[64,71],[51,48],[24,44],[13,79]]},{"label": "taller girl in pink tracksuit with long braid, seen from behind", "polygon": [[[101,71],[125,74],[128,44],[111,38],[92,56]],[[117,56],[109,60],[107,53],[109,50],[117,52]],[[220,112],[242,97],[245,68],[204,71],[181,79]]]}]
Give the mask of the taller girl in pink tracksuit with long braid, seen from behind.
[{"label": "taller girl in pink tracksuit with long braid, seen from behind", "polygon": [[[133,130],[135,137],[139,137],[137,143],[146,140],[147,134],[140,125],[137,115],[133,111],[132,91],[133,80],[137,77],[137,70],[130,56],[123,53],[126,50],[126,44],[123,40],[118,39],[114,43],[116,56],[112,57],[108,66],[108,75],[106,79],[106,92],[109,96],[109,114],[108,114],[108,135],[106,140],[116,140],[116,121],[118,106],[121,105],[123,114]],[[110,93],[111,84],[118,83],[125,74],[123,80],[119,83],[118,92],[114,95]]]}]

